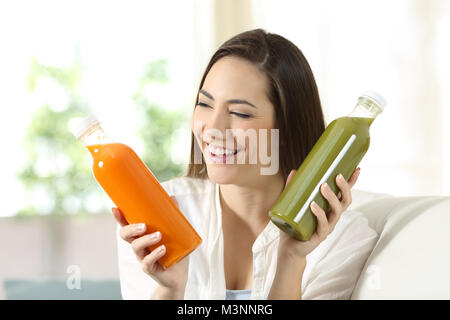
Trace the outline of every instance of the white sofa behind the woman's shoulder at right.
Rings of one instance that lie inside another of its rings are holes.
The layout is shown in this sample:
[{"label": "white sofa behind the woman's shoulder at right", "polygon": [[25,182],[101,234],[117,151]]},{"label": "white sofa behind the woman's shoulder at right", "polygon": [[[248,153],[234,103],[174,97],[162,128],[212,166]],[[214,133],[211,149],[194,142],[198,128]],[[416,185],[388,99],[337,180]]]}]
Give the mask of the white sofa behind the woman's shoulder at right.
[{"label": "white sofa behind the woman's shoulder at right", "polygon": [[379,239],[351,299],[450,299],[450,197],[352,198]]}]

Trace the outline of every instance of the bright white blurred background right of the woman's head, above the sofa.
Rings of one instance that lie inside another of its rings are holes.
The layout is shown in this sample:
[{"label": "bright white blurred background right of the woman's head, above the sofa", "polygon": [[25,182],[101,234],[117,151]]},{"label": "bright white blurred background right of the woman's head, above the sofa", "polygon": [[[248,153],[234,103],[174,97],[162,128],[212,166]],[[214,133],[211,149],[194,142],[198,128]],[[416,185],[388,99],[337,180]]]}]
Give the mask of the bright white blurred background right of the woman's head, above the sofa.
[{"label": "bright white blurred background right of the woman's head, above the sofa", "polygon": [[450,195],[450,3],[445,0],[253,0],[255,27],[293,41],[311,64],[327,123],[374,89],[357,187]]}]

